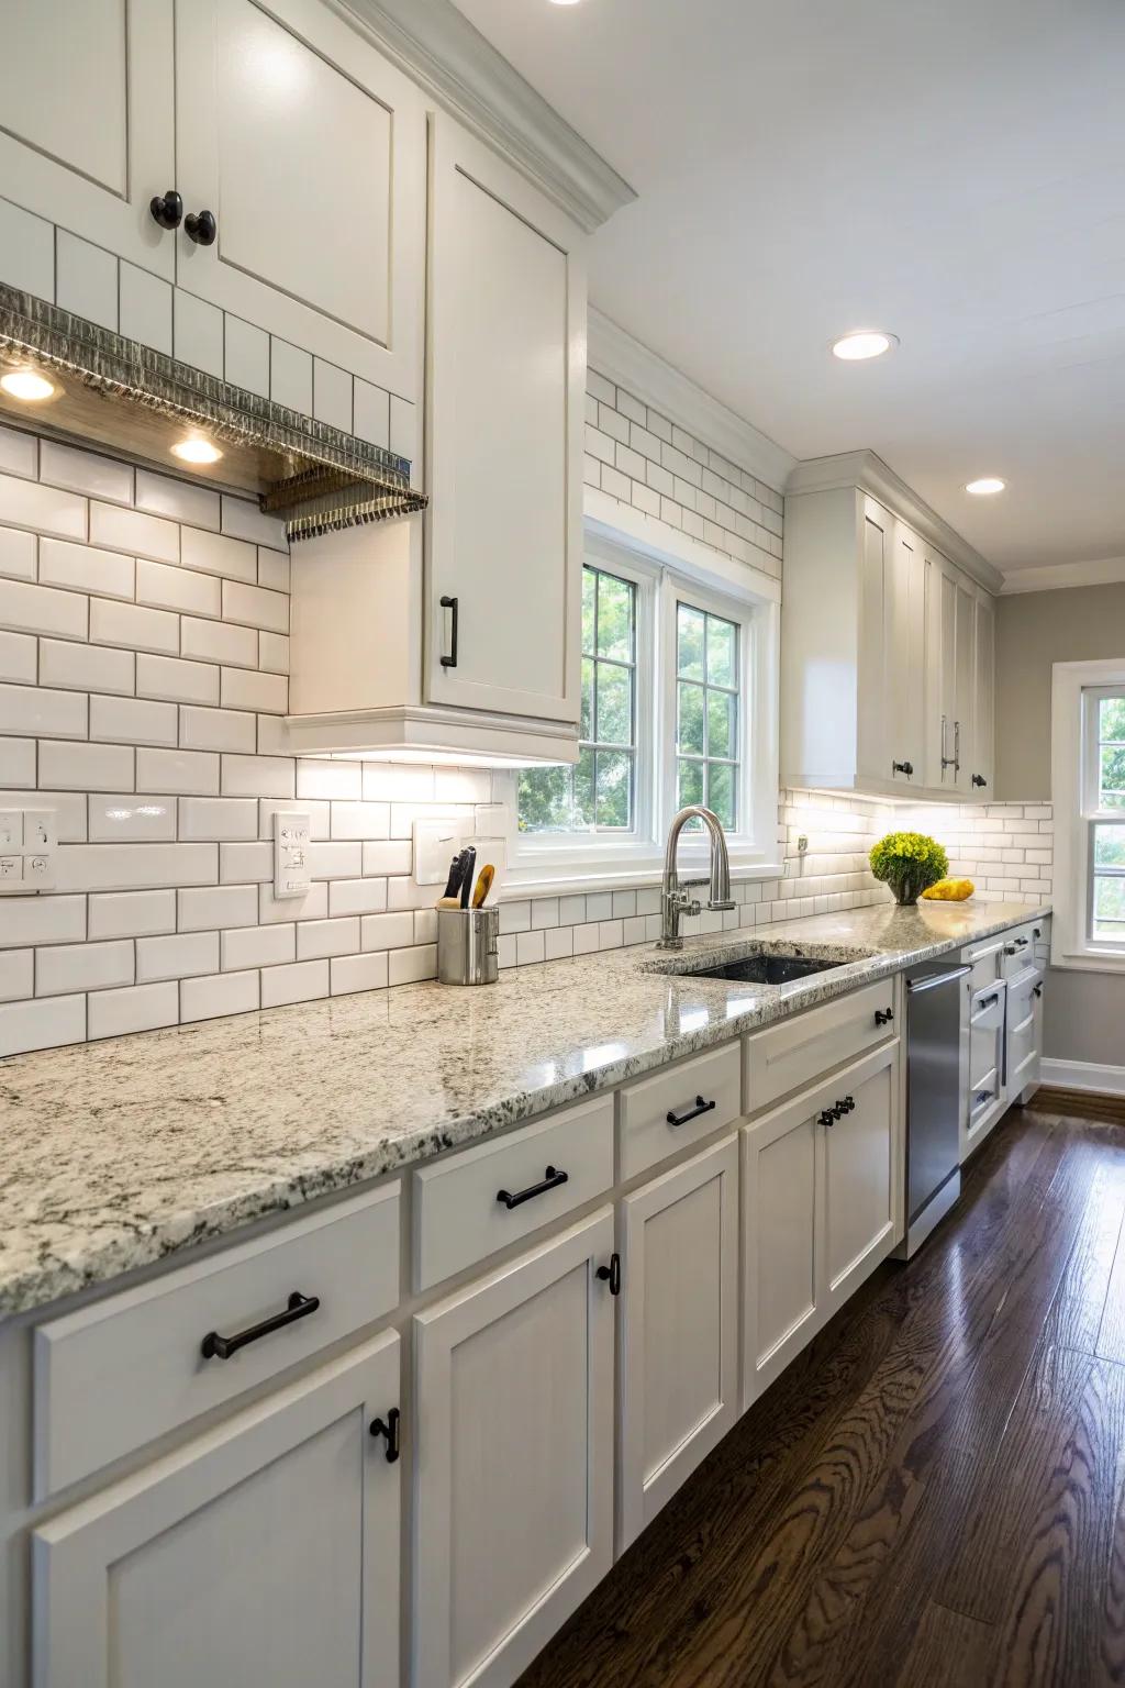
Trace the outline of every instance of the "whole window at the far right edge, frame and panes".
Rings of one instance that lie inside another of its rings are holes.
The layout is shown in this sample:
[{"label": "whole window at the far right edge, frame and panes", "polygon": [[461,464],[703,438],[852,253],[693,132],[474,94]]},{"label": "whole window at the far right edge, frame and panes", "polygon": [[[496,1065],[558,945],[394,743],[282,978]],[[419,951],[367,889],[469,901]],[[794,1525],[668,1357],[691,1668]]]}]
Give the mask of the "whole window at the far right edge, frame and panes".
[{"label": "whole window at the far right edge, frame and panes", "polygon": [[1054,663],[1051,795],[1051,959],[1125,971],[1125,658]]}]

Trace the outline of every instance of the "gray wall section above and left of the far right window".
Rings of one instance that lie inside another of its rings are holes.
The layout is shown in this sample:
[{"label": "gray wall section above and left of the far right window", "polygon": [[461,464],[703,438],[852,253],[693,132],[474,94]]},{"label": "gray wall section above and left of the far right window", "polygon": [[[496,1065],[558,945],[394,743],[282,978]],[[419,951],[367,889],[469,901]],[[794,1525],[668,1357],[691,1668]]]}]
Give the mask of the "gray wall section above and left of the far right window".
[{"label": "gray wall section above and left of the far right window", "polygon": [[1125,581],[997,601],[997,798],[1051,797],[1051,663],[1125,657]]}]

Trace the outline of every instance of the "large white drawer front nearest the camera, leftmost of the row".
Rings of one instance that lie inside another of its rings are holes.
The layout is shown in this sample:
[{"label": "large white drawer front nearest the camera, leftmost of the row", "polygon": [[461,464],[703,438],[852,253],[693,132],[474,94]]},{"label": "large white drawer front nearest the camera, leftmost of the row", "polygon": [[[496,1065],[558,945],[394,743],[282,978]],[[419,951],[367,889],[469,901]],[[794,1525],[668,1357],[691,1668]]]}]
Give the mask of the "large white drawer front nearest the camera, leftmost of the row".
[{"label": "large white drawer front nearest the camera, leftmost of the row", "polygon": [[[64,1489],[199,1413],[234,1399],[398,1301],[400,1183],[295,1219],[35,1330],[35,1499]],[[204,1337],[236,1337],[319,1303],[245,1344],[204,1357]]]}]

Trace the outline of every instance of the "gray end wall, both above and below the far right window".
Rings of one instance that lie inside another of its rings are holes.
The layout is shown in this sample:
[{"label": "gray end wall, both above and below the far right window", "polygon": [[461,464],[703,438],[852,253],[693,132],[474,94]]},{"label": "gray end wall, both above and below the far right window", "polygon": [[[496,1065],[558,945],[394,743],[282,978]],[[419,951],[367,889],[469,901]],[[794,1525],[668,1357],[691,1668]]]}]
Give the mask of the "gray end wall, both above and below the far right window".
[{"label": "gray end wall, both above and below the far right window", "polygon": [[[1125,582],[997,604],[997,797],[1051,797],[1051,663],[1125,657]],[[1058,817],[1056,817],[1058,825]],[[1052,969],[1044,1055],[1125,1067],[1125,977]]]}]

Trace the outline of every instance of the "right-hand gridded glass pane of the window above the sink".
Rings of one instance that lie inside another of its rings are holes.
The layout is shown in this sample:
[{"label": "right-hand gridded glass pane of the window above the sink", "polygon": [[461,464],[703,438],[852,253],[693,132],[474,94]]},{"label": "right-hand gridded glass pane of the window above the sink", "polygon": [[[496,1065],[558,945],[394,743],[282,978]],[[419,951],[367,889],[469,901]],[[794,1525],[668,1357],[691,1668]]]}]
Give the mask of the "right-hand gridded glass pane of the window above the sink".
[{"label": "right-hand gridded glass pane of the window above the sink", "polygon": [[[676,805],[739,814],[739,625],[676,603]],[[700,827],[702,822],[693,822]]]}]

